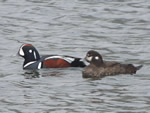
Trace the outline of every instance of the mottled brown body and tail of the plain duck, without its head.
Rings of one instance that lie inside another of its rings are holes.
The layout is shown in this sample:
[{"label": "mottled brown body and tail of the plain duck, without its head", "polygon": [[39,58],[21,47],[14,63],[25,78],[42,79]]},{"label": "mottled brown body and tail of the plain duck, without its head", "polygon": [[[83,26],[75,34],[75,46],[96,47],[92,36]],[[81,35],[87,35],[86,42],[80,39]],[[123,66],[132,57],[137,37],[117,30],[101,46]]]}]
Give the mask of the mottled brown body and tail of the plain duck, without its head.
[{"label": "mottled brown body and tail of the plain duck, without its head", "polygon": [[132,64],[121,64],[118,62],[104,61],[104,64],[100,67],[89,65],[84,68],[82,73],[84,78],[90,77],[104,77],[118,74],[135,74],[142,65],[135,67]]}]

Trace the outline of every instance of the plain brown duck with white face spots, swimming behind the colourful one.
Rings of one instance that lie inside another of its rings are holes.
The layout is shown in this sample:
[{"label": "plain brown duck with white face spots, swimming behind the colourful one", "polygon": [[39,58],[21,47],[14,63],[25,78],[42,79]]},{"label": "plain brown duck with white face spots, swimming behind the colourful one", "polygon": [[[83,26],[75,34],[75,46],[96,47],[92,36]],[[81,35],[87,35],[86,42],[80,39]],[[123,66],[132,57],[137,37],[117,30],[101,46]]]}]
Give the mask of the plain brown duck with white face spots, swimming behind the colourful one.
[{"label": "plain brown duck with white face spots, swimming behind the colourful one", "polygon": [[100,78],[117,74],[135,74],[142,65],[135,67],[132,64],[121,64],[119,62],[103,61],[97,51],[89,51],[85,57],[90,64],[82,71],[83,78]]}]

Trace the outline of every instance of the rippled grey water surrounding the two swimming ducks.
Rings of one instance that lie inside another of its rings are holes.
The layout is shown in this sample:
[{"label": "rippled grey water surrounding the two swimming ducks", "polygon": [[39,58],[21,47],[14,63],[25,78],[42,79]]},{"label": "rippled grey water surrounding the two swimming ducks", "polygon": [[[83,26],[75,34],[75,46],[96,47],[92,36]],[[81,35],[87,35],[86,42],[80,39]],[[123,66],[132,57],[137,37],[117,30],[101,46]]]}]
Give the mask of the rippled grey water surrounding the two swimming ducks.
[{"label": "rippled grey water surrounding the two swimming ducks", "polygon": [[[148,113],[149,0],[1,0],[1,113]],[[22,69],[23,43],[40,54],[84,57],[144,67],[136,75],[82,78],[82,68]]]}]

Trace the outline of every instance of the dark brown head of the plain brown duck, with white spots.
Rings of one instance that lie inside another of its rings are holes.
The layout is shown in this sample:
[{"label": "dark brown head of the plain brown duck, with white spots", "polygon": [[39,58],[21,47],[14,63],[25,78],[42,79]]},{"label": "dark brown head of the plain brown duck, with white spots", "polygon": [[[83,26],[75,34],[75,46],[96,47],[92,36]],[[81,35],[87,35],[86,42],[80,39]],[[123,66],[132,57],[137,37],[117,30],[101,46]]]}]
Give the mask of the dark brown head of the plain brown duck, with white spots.
[{"label": "dark brown head of the plain brown duck, with white spots", "polygon": [[90,64],[94,64],[97,67],[103,65],[104,63],[102,56],[97,51],[94,50],[90,50],[87,52],[85,60]]}]

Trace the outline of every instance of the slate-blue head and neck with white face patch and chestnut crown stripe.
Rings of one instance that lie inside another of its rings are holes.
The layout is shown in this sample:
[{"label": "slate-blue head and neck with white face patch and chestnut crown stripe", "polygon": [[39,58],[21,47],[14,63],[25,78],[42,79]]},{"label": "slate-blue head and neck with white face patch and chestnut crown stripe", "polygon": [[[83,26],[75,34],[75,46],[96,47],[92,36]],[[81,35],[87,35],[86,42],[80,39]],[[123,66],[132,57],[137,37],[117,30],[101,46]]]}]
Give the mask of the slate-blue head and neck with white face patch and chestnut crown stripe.
[{"label": "slate-blue head and neck with white face patch and chestnut crown stripe", "polygon": [[38,51],[31,44],[23,44],[18,51],[18,55],[25,59],[24,65],[40,59]]}]

